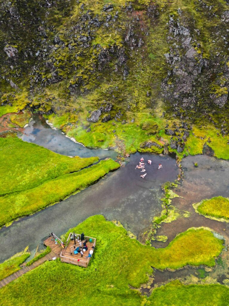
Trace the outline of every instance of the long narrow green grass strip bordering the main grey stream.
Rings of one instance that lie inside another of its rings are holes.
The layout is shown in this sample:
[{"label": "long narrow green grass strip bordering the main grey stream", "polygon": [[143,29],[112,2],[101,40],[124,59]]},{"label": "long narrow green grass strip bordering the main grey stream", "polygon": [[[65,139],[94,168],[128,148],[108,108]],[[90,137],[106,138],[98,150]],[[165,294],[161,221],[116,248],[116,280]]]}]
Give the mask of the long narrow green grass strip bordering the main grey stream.
[{"label": "long narrow green grass strip bordering the main grey stream", "polygon": [[0,197],[0,226],[55,204],[117,168],[119,164],[112,159],[102,160],[84,170],[45,181],[35,188],[2,196]]}]

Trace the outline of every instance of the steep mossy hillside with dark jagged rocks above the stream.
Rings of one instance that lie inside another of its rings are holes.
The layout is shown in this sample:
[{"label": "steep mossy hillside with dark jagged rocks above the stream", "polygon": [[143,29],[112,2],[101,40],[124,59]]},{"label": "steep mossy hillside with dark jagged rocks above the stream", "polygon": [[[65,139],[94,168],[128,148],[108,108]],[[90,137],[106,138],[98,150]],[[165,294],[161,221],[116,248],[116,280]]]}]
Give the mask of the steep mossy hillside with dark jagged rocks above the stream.
[{"label": "steep mossy hillside with dark jagged rocks above the stream", "polygon": [[1,104],[91,146],[181,153],[219,135],[227,148],[228,34],[225,0],[0,0]]}]

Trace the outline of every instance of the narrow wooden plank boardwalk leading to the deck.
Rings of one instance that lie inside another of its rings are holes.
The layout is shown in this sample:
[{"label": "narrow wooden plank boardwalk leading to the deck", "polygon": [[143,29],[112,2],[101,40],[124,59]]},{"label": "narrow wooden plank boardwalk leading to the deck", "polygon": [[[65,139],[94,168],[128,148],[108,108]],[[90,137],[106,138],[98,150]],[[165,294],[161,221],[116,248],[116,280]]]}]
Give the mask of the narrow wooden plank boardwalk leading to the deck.
[{"label": "narrow wooden plank boardwalk leading to the deck", "polygon": [[0,288],[2,288],[5,285],[9,284],[10,282],[14,281],[16,278],[20,277],[21,275],[31,271],[32,269],[34,269],[38,266],[40,266],[45,261],[52,260],[53,257],[56,257],[56,254],[51,251],[49,254],[46,254],[44,257],[38,259],[37,261],[32,263],[30,266],[28,266],[28,267],[24,266],[20,270],[16,271],[15,273],[9,275],[8,277],[6,277],[2,281],[0,281]]}]

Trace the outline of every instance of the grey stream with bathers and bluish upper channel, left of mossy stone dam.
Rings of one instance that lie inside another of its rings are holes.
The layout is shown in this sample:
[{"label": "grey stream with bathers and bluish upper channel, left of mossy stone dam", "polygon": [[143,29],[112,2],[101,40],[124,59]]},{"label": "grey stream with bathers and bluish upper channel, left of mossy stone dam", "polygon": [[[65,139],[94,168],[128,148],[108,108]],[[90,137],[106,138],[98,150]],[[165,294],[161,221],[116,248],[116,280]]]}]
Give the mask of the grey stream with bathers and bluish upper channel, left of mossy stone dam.
[{"label": "grey stream with bathers and bluish upper channel, left of mossy stone dam", "polygon": [[[65,155],[114,156],[114,151],[91,150],[71,141],[60,131],[51,129],[45,121],[39,121],[38,117],[35,117],[35,121],[33,126],[26,129],[27,136],[22,136],[22,139]],[[99,154],[95,154],[97,152]],[[107,174],[96,184],[34,215],[21,218],[8,228],[2,228],[0,239],[4,253],[0,253],[0,261],[12,256],[12,249],[7,247],[9,245],[13,245],[14,253],[27,245],[32,251],[38,244],[42,246],[43,239],[49,233],[60,236],[96,214],[102,214],[108,220],[116,219],[127,230],[138,235],[161,212],[161,185],[165,181],[174,181],[179,173],[176,160],[170,156],[144,154],[144,159],[151,159],[152,164],[146,166],[147,176],[142,179],[140,169],[135,170],[140,156],[139,153],[131,155],[126,159],[125,167]],[[159,163],[163,166],[160,170],[157,169]]]}]

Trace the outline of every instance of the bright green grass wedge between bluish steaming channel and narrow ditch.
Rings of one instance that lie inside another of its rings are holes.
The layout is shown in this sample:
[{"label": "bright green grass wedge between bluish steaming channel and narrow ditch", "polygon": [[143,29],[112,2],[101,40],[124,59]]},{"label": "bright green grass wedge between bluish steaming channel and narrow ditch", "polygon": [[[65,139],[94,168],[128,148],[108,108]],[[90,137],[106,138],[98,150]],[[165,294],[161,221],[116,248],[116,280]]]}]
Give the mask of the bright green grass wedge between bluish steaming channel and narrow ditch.
[{"label": "bright green grass wedge between bluish steaming channel and narrow ditch", "polygon": [[0,138],[0,195],[34,188],[97,161],[59,155],[18,138]]}]

